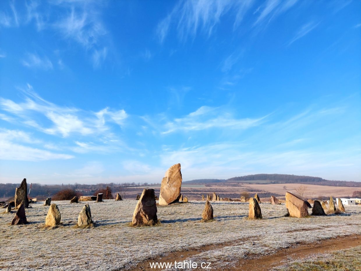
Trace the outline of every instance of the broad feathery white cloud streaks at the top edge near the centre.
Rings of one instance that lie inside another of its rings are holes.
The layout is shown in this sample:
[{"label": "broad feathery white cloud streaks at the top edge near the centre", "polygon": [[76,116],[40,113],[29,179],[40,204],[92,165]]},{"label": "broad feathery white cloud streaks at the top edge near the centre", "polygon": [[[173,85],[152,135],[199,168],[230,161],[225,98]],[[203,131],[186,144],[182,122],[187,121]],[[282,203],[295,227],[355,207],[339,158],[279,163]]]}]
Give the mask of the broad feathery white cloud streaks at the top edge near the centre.
[{"label": "broad feathery white cloud streaks at the top edge near the centre", "polygon": [[221,17],[228,12],[234,14],[234,27],[237,27],[252,4],[253,0],[179,1],[173,10],[158,23],[156,32],[161,43],[173,25],[177,28],[181,40],[195,36],[199,30],[209,36]]}]

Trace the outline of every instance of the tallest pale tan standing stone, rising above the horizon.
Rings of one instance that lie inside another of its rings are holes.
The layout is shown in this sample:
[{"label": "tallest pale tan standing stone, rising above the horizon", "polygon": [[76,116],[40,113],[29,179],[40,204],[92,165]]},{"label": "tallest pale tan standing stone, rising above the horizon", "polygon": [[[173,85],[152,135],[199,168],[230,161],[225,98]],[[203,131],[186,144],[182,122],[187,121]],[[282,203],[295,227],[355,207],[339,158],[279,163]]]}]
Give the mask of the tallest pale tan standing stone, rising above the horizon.
[{"label": "tallest pale tan standing stone, rising above the horizon", "polygon": [[179,199],[182,186],[181,164],[172,165],[165,173],[160,186],[159,205],[168,205]]}]

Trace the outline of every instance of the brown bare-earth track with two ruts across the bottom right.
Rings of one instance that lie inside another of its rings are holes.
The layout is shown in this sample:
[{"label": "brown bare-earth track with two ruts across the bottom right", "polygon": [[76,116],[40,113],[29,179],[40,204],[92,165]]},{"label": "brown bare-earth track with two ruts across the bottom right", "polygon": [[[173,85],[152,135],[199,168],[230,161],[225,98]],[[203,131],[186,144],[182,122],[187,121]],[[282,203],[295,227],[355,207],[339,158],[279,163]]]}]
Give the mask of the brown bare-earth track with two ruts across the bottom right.
[{"label": "brown bare-earth track with two ruts across the bottom right", "polygon": [[[233,242],[223,243],[218,245],[217,248],[222,248],[230,245],[239,245],[244,242],[247,242],[247,239],[237,240]],[[361,245],[361,235],[349,235],[345,237],[337,237],[328,240],[323,240],[319,243],[308,243],[308,244],[298,244],[291,248],[278,250],[276,253],[271,255],[262,256],[259,258],[250,258],[246,260],[239,261],[235,267],[229,267],[227,270],[230,271],[268,271],[273,267],[280,266],[292,259],[306,258],[310,255],[318,253],[326,253],[330,251],[352,248],[355,246]],[[160,271],[162,269],[151,268],[149,262],[180,262],[185,259],[192,257],[193,255],[200,254],[207,250],[214,249],[214,245],[205,245],[199,249],[192,249],[188,251],[174,251],[161,259],[159,257],[153,259],[147,259],[146,261],[140,262],[136,267],[129,269],[129,271],[139,271],[139,270],[152,270]],[[208,269],[209,270],[209,269]],[[217,268],[218,270],[218,268]]]}]

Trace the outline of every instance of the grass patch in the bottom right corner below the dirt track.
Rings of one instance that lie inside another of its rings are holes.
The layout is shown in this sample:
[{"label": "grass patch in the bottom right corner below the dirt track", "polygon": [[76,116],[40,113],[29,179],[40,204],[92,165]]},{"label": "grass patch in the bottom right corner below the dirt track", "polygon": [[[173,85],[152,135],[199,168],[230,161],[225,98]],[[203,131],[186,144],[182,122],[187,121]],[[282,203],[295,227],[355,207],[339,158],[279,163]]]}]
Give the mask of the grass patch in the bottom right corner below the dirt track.
[{"label": "grass patch in the bottom right corner below the dirt track", "polygon": [[273,271],[361,271],[361,246],[316,255],[303,261],[292,262]]}]

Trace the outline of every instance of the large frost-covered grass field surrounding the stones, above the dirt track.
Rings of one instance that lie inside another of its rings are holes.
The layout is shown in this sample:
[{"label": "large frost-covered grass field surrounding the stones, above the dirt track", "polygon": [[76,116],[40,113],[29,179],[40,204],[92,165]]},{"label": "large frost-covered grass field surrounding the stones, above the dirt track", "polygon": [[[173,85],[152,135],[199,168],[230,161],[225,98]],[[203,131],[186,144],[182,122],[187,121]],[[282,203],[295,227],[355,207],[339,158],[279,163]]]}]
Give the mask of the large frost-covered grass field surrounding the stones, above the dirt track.
[{"label": "large frost-covered grass field surrounding the stones, above the dirt track", "polygon": [[[160,226],[129,227],[136,200],[52,203],[61,212],[63,224],[57,228],[43,228],[49,207],[42,203],[26,209],[27,225],[10,226],[14,214],[0,215],[0,270],[124,270],[150,257],[208,244],[214,249],[192,259],[225,266],[299,242],[361,234],[361,206],[345,206],[348,214],[297,219],[284,217],[284,205],[261,204],[264,219],[248,220],[248,203],[212,202],[215,221],[200,223],[205,202],[195,201],[158,206]],[[96,227],[76,228],[86,203]]]}]

